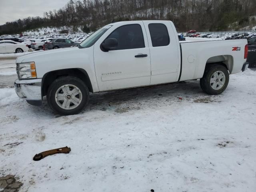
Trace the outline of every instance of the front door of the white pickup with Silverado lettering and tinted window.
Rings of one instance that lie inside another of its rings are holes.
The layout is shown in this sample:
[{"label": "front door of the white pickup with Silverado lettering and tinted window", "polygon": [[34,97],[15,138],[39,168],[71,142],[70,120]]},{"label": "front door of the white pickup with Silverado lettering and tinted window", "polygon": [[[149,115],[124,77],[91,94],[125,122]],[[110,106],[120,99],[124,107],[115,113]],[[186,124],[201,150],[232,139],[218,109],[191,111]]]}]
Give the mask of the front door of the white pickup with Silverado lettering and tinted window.
[{"label": "front door of the white pickup with Silverado lettering and tinted window", "polygon": [[[115,25],[112,32],[94,44],[94,66],[100,91],[150,84],[150,52],[142,21]],[[108,52],[100,48],[108,38],[118,46]]]}]

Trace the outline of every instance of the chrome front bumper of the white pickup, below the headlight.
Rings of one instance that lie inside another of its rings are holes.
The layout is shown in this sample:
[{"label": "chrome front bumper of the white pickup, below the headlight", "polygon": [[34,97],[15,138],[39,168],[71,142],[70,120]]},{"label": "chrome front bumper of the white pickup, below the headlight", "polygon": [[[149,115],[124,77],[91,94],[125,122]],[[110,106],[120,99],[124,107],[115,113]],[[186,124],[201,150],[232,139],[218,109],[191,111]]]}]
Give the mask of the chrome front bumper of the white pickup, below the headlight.
[{"label": "chrome front bumper of the white pickup, below the headlight", "polygon": [[17,79],[14,82],[14,88],[19,98],[26,100],[29,104],[40,106],[42,104],[41,84],[42,79]]}]

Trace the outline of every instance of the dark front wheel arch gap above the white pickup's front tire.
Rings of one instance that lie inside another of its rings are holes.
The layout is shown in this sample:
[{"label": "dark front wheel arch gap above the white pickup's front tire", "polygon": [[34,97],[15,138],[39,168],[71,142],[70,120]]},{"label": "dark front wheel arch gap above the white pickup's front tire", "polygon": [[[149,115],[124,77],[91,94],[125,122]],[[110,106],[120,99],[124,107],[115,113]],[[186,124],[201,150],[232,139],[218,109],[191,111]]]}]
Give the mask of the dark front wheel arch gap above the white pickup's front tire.
[{"label": "dark front wheel arch gap above the white pickup's front tire", "polygon": [[57,78],[60,78],[63,76],[74,76],[81,79],[86,84],[89,91],[93,92],[92,83],[90,81],[88,73],[82,68],[69,68],[69,69],[50,71],[44,74],[42,78],[42,86],[41,86],[42,97],[46,96],[48,88],[50,87],[52,82],[54,82],[54,80],[56,80]]}]

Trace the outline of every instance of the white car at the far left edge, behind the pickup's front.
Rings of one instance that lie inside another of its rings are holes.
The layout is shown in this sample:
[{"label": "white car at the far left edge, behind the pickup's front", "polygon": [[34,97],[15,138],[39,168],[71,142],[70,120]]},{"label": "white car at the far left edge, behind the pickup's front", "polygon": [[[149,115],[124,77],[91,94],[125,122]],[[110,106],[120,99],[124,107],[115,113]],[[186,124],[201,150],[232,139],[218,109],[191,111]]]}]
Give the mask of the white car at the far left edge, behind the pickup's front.
[{"label": "white car at the far left edge, behind the pickup's front", "polygon": [[25,51],[28,51],[26,44],[12,40],[0,41],[0,53],[23,53]]}]

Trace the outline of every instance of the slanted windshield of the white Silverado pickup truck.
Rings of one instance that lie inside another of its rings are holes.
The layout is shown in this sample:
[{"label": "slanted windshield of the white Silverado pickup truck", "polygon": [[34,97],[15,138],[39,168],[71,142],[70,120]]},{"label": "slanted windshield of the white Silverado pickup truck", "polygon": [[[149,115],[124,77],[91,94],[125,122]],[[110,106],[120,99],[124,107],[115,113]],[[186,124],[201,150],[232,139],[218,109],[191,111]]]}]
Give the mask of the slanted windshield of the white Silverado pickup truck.
[{"label": "slanted windshield of the white Silverado pickup truck", "polygon": [[94,43],[110,28],[112,25],[106,25],[100,28],[98,31],[91,34],[88,38],[86,38],[83,42],[80,43],[79,48],[88,48],[93,46]]}]

